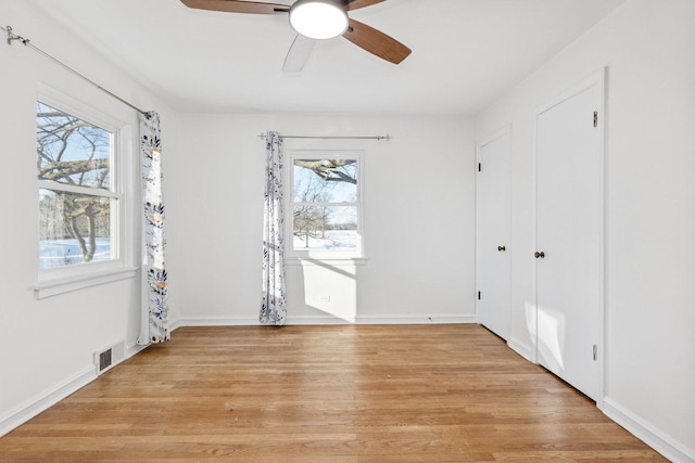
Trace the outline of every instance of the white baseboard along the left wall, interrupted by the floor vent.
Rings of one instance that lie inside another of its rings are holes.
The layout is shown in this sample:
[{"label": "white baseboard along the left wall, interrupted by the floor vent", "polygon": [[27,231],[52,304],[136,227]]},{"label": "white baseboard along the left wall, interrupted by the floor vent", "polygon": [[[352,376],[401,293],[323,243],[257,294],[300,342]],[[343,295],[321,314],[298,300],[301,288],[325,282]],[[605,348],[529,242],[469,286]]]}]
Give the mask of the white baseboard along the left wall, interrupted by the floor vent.
[{"label": "white baseboard along the left wall, interrupted by the floor vent", "polygon": [[[148,346],[131,346],[125,349],[125,356],[114,366],[122,363],[126,359],[135,356]],[[4,436],[15,427],[26,423],[39,413],[48,410],[55,403],[60,402],[71,394],[81,389],[89,383],[98,378],[97,366],[90,365],[85,368],[81,372],[65,380],[56,386],[39,394],[37,397],[27,400],[26,402],[15,407],[10,412],[0,416],[0,437]]]}]

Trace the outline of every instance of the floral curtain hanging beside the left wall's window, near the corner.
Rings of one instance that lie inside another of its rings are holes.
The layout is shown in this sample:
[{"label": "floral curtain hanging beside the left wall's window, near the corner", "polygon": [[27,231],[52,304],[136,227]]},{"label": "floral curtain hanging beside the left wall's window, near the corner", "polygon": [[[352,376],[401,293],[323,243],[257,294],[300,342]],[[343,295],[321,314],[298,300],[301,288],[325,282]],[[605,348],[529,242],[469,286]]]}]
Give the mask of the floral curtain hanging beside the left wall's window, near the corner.
[{"label": "floral curtain hanging beside the left wall's window, near the corner", "polygon": [[167,283],[162,201],[162,150],[160,115],[140,114],[140,173],[143,204],[143,296],[138,344],[169,340]]}]

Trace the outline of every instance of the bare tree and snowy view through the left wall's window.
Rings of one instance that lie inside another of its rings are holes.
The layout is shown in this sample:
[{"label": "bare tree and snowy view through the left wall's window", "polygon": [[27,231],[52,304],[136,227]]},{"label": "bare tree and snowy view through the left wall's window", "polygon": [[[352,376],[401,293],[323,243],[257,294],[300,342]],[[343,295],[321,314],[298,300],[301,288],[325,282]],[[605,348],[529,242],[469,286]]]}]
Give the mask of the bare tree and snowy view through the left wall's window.
[{"label": "bare tree and snowy view through the left wall's window", "polygon": [[37,103],[39,268],[112,258],[112,133]]}]

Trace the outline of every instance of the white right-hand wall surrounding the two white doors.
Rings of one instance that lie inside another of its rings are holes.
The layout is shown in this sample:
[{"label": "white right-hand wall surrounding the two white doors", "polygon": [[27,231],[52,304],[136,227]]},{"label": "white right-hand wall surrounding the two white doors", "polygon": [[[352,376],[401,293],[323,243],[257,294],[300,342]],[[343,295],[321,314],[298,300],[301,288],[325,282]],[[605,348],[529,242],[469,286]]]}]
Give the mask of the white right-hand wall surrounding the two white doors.
[{"label": "white right-hand wall surrounding the two white doors", "polygon": [[478,117],[513,125],[510,345],[533,350],[533,112],[608,66],[604,410],[695,460],[695,2],[628,0]]}]

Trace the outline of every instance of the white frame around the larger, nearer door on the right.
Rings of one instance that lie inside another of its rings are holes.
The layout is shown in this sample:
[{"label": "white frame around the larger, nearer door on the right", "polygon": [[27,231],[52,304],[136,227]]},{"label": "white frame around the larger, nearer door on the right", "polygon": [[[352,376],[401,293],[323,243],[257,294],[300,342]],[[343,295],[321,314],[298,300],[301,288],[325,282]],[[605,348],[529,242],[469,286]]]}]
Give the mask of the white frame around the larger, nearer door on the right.
[{"label": "white frame around the larger, nearer door on the right", "polygon": [[[558,95],[552,98],[547,103],[540,105],[533,112],[533,189],[532,189],[532,253],[538,250],[538,168],[539,168],[539,159],[538,159],[538,121],[539,117],[552,110],[553,107],[564,103],[570,98],[581,93],[587,88],[598,86],[598,120],[597,120],[597,130],[598,130],[598,157],[599,157],[599,177],[601,177],[601,190],[598,192],[599,201],[598,201],[598,222],[601,224],[601,234],[599,234],[599,243],[598,243],[598,252],[602,259],[599,266],[599,274],[598,274],[598,284],[599,284],[599,293],[601,293],[601,304],[598,307],[598,339],[597,339],[597,362],[598,362],[598,397],[596,399],[596,406],[602,409],[605,397],[605,378],[606,378],[606,137],[605,137],[605,128],[606,128],[606,73],[607,68],[602,67],[598,70],[593,72],[587,77],[582,79],[579,83],[573,85],[567,90],[563,91]],[[529,259],[534,259],[532,254],[529,254]],[[539,343],[538,343],[538,261],[533,261],[533,272],[531,276],[532,284],[532,293],[533,293],[533,308],[534,308],[534,330],[535,333],[531,333],[531,340],[534,343],[534,349],[532,351],[533,358],[532,361],[539,364]]]}]

